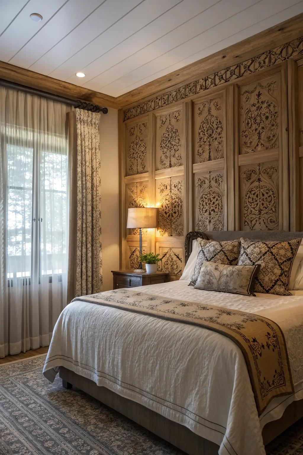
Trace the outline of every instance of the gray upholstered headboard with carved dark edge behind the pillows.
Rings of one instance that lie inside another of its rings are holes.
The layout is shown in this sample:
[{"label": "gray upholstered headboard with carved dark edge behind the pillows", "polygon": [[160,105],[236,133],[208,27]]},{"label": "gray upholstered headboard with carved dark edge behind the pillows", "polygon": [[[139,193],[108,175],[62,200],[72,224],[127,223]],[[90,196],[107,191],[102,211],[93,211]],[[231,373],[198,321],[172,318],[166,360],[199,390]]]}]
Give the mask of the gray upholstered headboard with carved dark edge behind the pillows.
[{"label": "gray upholstered headboard with carved dark edge behind the pillows", "polygon": [[185,237],[185,263],[192,252],[192,243],[196,238],[205,238],[224,242],[225,240],[236,240],[237,238],[250,238],[252,240],[292,240],[293,238],[303,238],[303,232],[288,231],[196,231],[189,232]]}]

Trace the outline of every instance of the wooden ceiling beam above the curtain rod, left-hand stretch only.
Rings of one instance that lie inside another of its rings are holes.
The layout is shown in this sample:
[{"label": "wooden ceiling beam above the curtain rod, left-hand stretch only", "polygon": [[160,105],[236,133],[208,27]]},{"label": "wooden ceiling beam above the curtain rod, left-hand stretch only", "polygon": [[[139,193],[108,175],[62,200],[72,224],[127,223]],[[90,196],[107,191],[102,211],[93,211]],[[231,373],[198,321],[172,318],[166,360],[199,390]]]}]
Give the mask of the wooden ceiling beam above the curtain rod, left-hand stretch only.
[{"label": "wooden ceiling beam above the curtain rod, left-hand stretch only", "polygon": [[10,65],[10,63],[5,63],[4,61],[0,61],[0,79],[47,91],[55,95],[65,96],[65,98],[73,100],[88,101],[102,107],[119,108],[117,98],[114,96],[104,95],[98,91],[76,86],[50,76],[44,76],[26,68]]}]

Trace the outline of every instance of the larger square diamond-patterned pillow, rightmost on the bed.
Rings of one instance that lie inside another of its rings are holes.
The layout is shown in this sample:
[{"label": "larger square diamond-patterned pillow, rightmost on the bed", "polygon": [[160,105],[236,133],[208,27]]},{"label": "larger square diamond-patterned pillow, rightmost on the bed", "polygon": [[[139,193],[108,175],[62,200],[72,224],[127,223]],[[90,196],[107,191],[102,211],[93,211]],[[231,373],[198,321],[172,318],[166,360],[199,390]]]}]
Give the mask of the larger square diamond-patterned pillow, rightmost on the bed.
[{"label": "larger square diamond-patterned pillow, rightmost on the bed", "polygon": [[300,238],[288,242],[269,242],[241,238],[239,265],[261,264],[254,280],[254,292],[291,295],[288,282]]}]

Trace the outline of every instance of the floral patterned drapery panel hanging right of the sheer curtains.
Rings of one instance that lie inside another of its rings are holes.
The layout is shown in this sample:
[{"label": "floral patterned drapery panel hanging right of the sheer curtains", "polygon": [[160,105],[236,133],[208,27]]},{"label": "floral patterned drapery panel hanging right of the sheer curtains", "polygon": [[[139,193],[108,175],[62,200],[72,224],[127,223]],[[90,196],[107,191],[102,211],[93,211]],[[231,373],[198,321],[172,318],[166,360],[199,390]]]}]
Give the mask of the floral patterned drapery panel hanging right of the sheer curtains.
[{"label": "floral patterned drapery panel hanging right of the sheer curtains", "polygon": [[99,120],[98,113],[75,109],[76,140],[71,141],[74,163],[70,170],[69,298],[102,289]]}]

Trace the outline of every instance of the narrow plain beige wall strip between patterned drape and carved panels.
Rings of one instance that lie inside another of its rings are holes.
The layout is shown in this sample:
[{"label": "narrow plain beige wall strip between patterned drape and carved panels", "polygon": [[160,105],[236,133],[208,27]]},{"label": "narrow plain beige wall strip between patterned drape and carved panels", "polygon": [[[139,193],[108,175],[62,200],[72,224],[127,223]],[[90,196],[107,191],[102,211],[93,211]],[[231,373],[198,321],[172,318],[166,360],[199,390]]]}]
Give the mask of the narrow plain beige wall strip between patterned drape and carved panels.
[{"label": "narrow plain beige wall strip between patterned drape and carved panels", "polygon": [[113,288],[111,270],[119,270],[118,111],[100,119],[103,291]]}]

